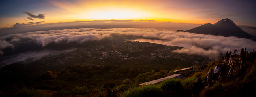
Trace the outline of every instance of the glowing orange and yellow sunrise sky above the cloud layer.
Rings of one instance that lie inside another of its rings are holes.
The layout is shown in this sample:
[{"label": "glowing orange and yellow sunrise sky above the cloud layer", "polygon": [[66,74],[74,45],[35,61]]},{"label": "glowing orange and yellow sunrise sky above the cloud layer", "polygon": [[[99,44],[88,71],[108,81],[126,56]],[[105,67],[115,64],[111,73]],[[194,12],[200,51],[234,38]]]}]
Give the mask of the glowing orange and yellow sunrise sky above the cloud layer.
[{"label": "glowing orange and yellow sunrise sky above the cloud layer", "polygon": [[[230,18],[238,25],[254,24],[253,21],[255,19],[247,23],[240,19],[241,16],[238,17],[239,15],[237,14],[239,11],[230,10],[239,3],[241,2],[231,3],[227,6],[226,4],[220,4],[220,2],[206,2],[201,0],[35,1],[24,3],[27,6],[18,7],[20,8],[19,10],[12,7],[14,10],[12,12],[7,13],[7,11],[3,11],[3,15],[0,17],[0,28],[12,27],[16,22],[29,23],[44,21],[43,23],[58,23],[111,19],[204,24],[215,23],[220,19]],[[247,2],[242,3],[247,4]],[[28,15],[23,12],[29,12],[34,15],[43,14],[45,15],[45,19],[34,18],[34,20],[29,20],[27,19]]]}]

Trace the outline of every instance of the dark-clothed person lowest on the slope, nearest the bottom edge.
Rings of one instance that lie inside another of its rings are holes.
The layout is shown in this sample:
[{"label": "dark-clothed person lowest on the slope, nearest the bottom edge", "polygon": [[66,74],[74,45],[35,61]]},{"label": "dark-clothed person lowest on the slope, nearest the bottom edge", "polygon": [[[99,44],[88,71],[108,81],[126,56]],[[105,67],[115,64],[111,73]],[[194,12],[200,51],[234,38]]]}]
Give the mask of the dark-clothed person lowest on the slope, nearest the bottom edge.
[{"label": "dark-clothed person lowest on the slope, nearest the bottom edge", "polygon": [[193,95],[192,97],[198,97],[199,92],[203,89],[203,83],[202,83],[202,78],[198,78],[198,81],[194,84],[193,86]]}]

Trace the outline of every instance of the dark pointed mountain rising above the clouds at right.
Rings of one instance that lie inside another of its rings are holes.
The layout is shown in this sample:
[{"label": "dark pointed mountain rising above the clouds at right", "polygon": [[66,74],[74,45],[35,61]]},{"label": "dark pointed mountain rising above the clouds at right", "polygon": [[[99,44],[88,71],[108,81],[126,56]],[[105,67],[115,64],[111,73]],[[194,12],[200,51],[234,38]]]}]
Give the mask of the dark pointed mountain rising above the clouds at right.
[{"label": "dark pointed mountain rising above the clouds at right", "polygon": [[186,30],[186,32],[198,33],[198,34],[211,34],[215,36],[220,35],[225,37],[235,36],[239,38],[247,38],[247,39],[252,39],[256,41],[255,36],[245,32],[228,18],[222,19],[214,24],[206,23],[199,27]]}]

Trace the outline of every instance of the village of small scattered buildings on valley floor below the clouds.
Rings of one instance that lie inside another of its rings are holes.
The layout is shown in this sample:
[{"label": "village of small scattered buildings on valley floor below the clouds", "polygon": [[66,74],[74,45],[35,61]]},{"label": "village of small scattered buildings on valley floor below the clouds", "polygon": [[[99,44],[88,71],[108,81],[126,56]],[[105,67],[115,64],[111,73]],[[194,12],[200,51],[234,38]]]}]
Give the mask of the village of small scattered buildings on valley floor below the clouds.
[{"label": "village of small scattered buildings on valley floor below the clouds", "polygon": [[[188,55],[183,53],[174,53],[173,50],[181,49],[182,47],[167,46],[162,44],[154,44],[149,42],[110,42],[107,44],[85,46],[78,48],[75,51],[68,53],[60,53],[60,55],[51,55],[43,57],[41,60],[43,63],[49,63],[45,61],[51,59],[51,63],[65,64],[70,61],[76,61],[75,63],[82,61],[86,63],[92,63],[95,60],[106,61],[109,59],[118,59],[121,61],[131,59],[142,60],[154,60],[154,59],[202,59],[203,57],[196,57],[196,55]],[[194,63],[198,63],[194,61]]]}]

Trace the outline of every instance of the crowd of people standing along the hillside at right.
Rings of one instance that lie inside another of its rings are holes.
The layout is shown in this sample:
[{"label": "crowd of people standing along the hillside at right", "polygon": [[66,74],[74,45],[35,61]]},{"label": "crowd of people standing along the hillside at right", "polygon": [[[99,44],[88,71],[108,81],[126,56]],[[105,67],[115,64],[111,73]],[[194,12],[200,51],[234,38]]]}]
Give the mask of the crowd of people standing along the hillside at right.
[{"label": "crowd of people standing along the hillside at right", "polygon": [[[243,74],[243,67],[246,62],[246,60],[250,60],[250,64],[252,65],[256,59],[256,52],[254,52],[254,49],[252,52],[249,53],[247,49],[241,49],[240,52],[240,59],[238,62],[234,62],[233,58],[236,57],[237,50],[235,49],[234,52],[226,52],[226,55],[222,55],[221,61],[224,59],[223,64],[218,64],[215,66],[214,70],[211,68],[207,74],[207,84],[206,87],[209,87],[212,82],[215,81],[222,81],[223,77],[230,78],[232,77],[233,71],[235,69],[235,65],[239,65],[237,68],[237,80],[240,78],[240,76]],[[219,63],[221,63],[221,61]],[[204,63],[202,64],[201,70],[203,70]],[[227,68],[229,67],[228,74],[226,75]],[[198,78],[198,81],[193,86],[193,96],[198,95],[200,90],[203,89],[202,84],[202,78]]]}]

